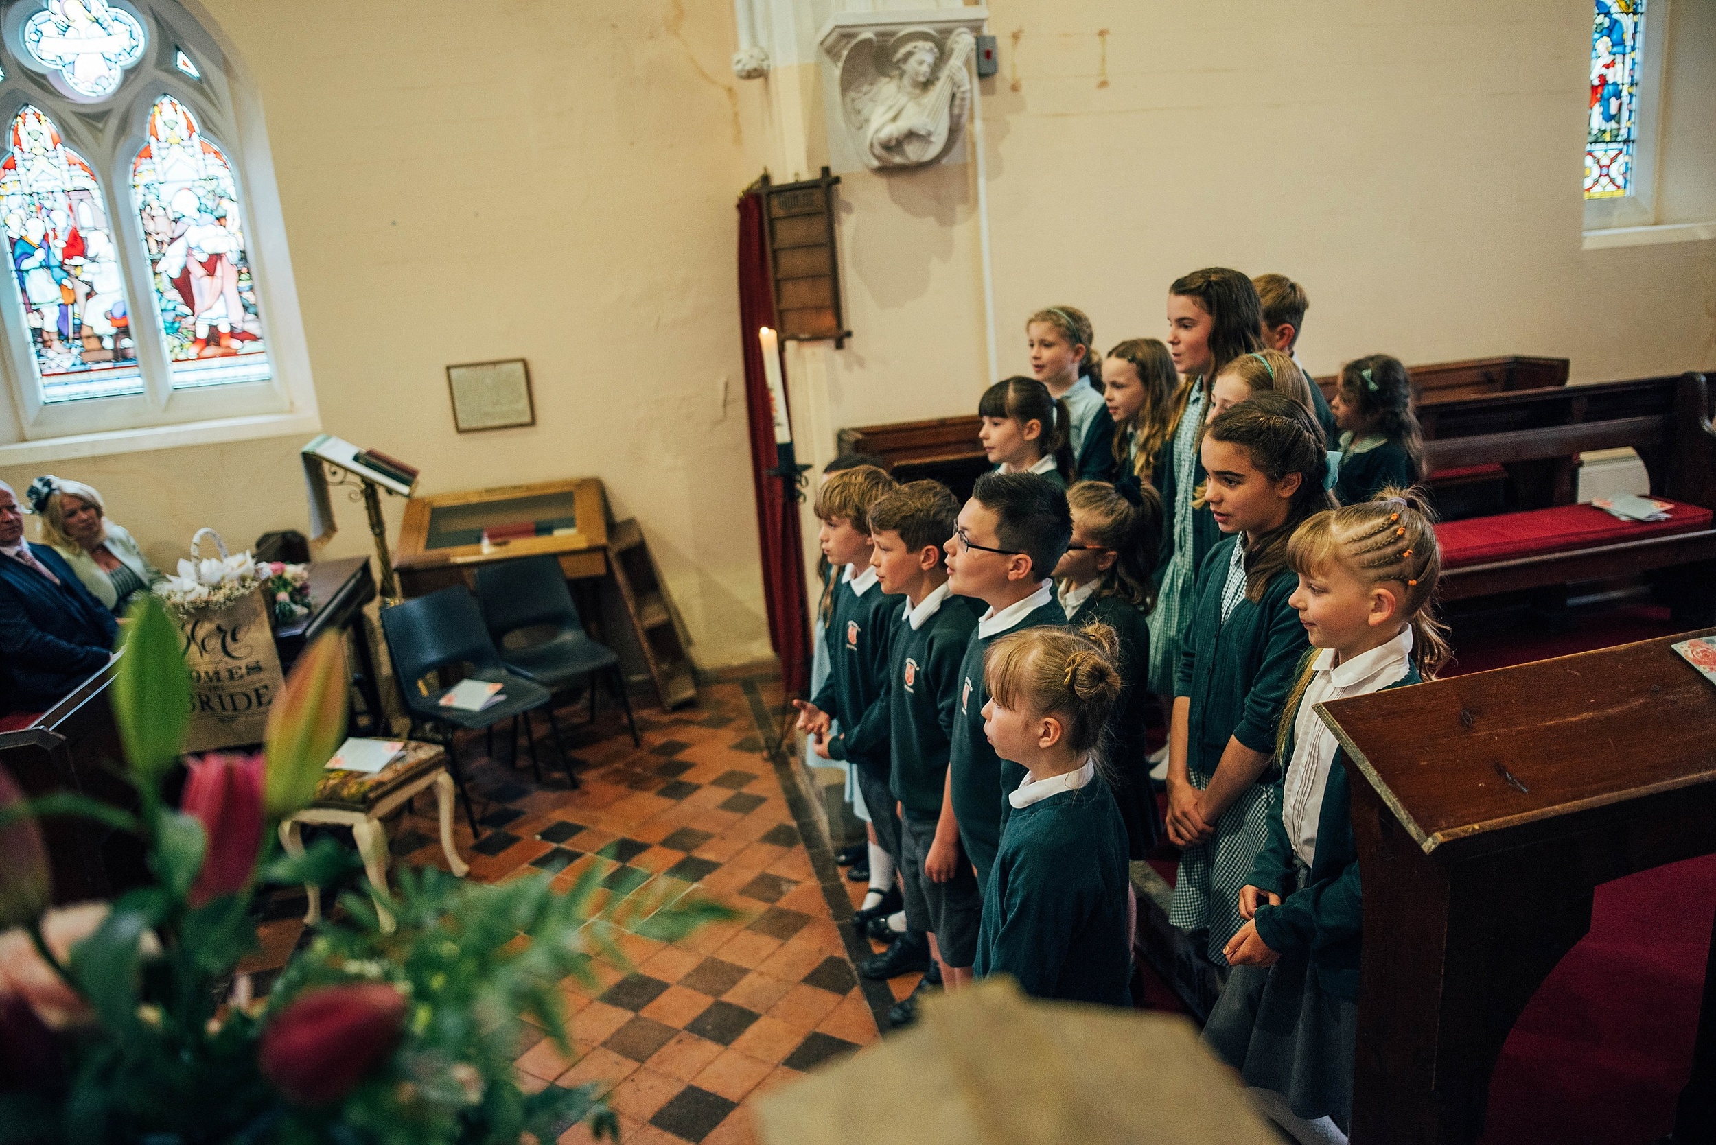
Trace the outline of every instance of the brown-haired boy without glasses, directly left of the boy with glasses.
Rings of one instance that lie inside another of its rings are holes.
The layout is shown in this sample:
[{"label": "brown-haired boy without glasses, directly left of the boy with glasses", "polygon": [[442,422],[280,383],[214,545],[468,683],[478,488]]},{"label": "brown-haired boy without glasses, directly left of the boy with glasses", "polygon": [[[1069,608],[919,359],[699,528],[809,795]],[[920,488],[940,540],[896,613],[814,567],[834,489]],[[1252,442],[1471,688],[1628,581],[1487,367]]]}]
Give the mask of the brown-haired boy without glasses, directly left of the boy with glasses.
[{"label": "brown-haired boy without glasses, directly left of the boy with glasses", "polygon": [[[884,698],[894,747],[892,794],[899,800],[906,929],[908,934],[928,932],[930,951],[949,989],[971,980],[983,910],[971,862],[959,847],[947,771],[959,663],[976,627],[971,602],[947,588],[940,542],[954,531],[958,516],[959,502],[939,482],[901,485],[870,507],[870,540],[875,542],[870,564],[884,591],[906,596],[894,619]],[[909,1025],[916,1008],[918,991],[913,991],[887,1011],[889,1025]]]}]

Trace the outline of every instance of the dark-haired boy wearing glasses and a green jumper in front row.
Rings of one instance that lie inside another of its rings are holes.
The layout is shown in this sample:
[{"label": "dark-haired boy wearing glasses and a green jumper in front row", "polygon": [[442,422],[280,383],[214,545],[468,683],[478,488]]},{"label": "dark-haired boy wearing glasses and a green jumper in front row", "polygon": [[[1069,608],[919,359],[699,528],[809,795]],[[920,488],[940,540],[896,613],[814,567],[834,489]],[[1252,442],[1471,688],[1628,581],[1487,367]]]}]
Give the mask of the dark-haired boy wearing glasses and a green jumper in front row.
[{"label": "dark-haired boy wearing glasses and a green jumper in front row", "polygon": [[959,715],[949,754],[949,792],[959,819],[959,840],[976,866],[978,886],[1000,845],[1004,792],[1024,778],[983,735],[983,653],[995,639],[1038,624],[1062,626],[1066,612],[1048,579],[1072,538],[1072,514],[1059,487],[1031,473],[985,473],[959,511],[947,538],[947,586],[988,605],[978,617],[959,665]]}]

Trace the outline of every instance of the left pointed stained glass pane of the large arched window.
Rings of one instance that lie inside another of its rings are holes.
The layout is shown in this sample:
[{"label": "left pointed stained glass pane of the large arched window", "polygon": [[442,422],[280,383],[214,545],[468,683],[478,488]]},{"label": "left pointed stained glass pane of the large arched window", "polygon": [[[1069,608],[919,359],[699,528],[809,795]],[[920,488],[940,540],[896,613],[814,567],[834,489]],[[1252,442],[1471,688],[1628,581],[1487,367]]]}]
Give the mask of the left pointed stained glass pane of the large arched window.
[{"label": "left pointed stained glass pane of the large arched window", "polygon": [[26,105],[0,161],[0,218],[43,401],[141,394],[101,182]]}]

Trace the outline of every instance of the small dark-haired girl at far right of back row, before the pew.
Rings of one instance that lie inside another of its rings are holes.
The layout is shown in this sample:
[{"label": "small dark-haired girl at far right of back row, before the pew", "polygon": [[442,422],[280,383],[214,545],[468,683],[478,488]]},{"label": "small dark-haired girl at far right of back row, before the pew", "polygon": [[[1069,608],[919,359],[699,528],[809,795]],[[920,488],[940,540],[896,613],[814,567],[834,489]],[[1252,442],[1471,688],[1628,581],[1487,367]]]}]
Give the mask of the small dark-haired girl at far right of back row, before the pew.
[{"label": "small dark-haired girl at far right of back row, before the pew", "polygon": [[1424,478],[1424,434],[1400,358],[1373,353],[1344,365],[1330,410],[1340,427],[1340,504],[1359,504],[1378,489],[1409,489]]}]

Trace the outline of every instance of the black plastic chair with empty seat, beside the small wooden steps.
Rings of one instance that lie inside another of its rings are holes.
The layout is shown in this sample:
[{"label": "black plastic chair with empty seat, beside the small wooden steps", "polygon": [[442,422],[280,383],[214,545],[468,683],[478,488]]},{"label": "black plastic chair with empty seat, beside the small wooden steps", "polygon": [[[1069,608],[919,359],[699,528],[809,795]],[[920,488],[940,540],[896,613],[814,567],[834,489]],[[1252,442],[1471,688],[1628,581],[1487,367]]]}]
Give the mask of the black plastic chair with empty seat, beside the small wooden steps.
[{"label": "black plastic chair with empty seat, beside the small wooden steps", "polygon": [[[613,648],[599,644],[583,631],[578,605],[566,588],[566,576],[554,557],[520,557],[496,564],[477,566],[477,600],[489,636],[501,650],[501,660],[513,672],[535,680],[551,692],[563,692],[580,679],[590,686],[590,723],[595,722],[595,677],[619,701],[631,728],[631,746],[640,747],[637,720],[631,718],[631,699],[626,696],[625,677],[619,675],[619,656]],[[506,638],[529,627],[553,627],[547,638],[508,648]],[[554,710],[547,723],[559,742]]]}]

